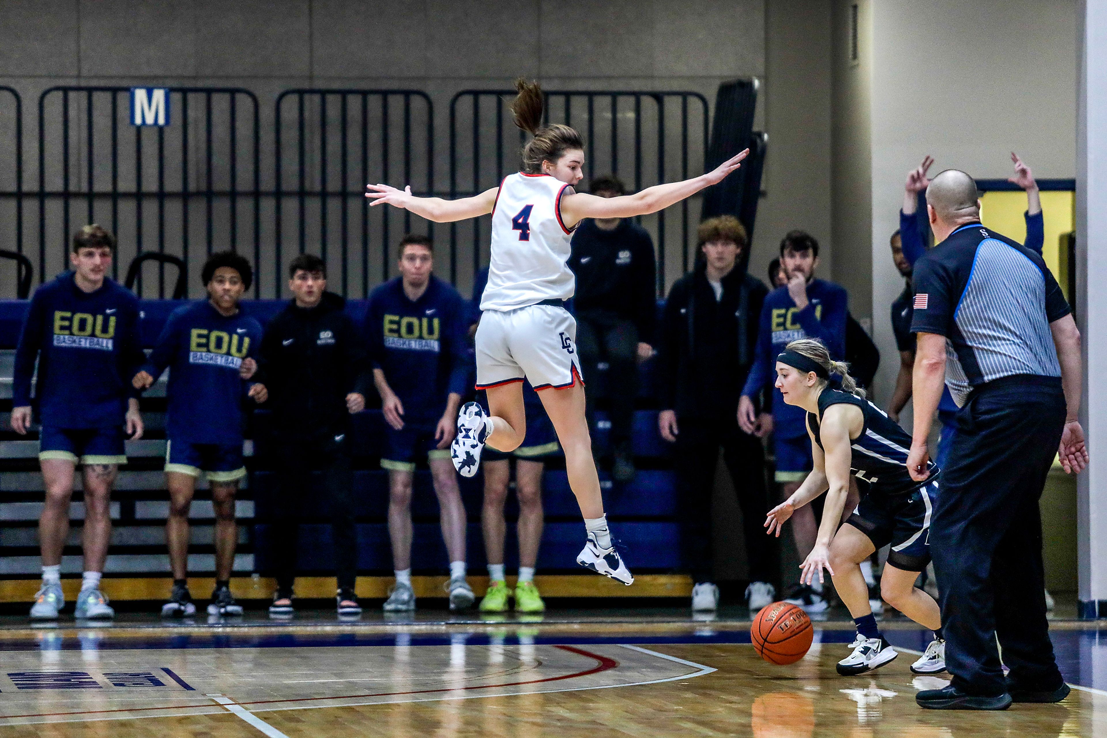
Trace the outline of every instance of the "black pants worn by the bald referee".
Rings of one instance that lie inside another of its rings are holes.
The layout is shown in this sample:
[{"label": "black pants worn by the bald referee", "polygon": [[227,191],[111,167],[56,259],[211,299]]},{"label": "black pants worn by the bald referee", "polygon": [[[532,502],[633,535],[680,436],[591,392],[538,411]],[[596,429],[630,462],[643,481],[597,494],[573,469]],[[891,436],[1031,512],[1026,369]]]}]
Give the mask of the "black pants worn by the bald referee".
[{"label": "black pants worn by the bald referee", "polygon": [[945,664],[976,695],[1011,678],[1053,689],[1062,676],[1049,642],[1038,500],[1065,424],[1054,377],[1013,376],[977,388],[958,413],[931,521]]}]

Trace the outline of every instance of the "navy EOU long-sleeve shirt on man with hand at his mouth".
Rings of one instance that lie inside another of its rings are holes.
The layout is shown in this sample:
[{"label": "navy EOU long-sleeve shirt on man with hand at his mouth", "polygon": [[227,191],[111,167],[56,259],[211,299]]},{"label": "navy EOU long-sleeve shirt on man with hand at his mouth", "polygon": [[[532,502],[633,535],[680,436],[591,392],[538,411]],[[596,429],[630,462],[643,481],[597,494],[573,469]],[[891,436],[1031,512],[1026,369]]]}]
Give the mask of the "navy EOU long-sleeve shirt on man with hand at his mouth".
[{"label": "navy EOU long-sleeve shirt on man with hand at his mouth", "polygon": [[782,438],[798,438],[807,434],[806,410],[784,402],[776,381],[776,356],[790,341],[818,339],[830,350],[835,361],[846,356],[846,290],[821,279],[807,284],[807,306],[796,308],[788,288],[778,287],[765,298],[757,330],[757,352],[742,394],[756,397],[763,387],[773,397],[773,433]]}]

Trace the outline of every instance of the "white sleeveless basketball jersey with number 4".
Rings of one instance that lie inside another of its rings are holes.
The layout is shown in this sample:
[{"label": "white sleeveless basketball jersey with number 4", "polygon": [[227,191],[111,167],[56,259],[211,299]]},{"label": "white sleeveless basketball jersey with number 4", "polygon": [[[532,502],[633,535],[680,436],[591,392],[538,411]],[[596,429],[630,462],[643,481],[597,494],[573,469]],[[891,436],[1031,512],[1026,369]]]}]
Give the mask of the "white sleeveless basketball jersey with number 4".
[{"label": "white sleeveless basketball jersey with number 4", "polygon": [[549,175],[517,173],[499,185],[492,211],[492,263],[480,310],[515,310],[567,300],[576,281],[566,266],[572,231],[561,222],[569,185]]}]

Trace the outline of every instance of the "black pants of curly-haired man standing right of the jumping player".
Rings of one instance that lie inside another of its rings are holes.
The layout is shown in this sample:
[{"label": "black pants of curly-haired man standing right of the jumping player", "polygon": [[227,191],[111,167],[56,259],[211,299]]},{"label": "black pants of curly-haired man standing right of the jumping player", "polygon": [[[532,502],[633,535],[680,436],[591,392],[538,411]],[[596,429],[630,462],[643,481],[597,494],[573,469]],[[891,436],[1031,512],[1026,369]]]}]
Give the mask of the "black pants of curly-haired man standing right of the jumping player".
[{"label": "black pants of curly-haired man standing right of the jumping player", "polygon": [[765,453],[761,439],[738,427],[737,418],[700,420],[677,418],[676,485],[681,509],[684,565],[696,584],[714,581],[711,499],[715,488],[718,447],[742,506],[749,580],[772,581],[770,544],[765,534],[768,500]]}]

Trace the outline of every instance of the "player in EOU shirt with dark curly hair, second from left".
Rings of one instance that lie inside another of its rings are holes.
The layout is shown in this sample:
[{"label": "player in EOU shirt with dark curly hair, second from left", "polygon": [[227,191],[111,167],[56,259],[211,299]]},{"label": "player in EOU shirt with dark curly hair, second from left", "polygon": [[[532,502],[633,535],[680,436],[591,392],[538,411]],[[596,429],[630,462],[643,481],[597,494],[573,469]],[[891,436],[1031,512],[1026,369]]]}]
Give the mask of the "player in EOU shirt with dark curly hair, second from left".
[{"label": "player in EOU shirt with dark curly hair, second from left", "polygon": [[[200,272],[208,299],[177,308],[169,315],[148,361],[134,377],[137,389],[149,387],[167,367],[169,412],[166,419],[165,479],[169,517],[165,538],[173,569],[173,593],[163,616],[196,613],[188,593],[188,510],[201,474],[211,485],[215,509],[215,591],[209,615],[241,615],[230,594],[238,527],[235,495],[246,476],[242,464],[242,401],[246,380],[257,371],[261,324],[238,305],[250,289],[250,262],[231,251],[208,257]],[[250,396],[265,401],[265,387]]]}]

